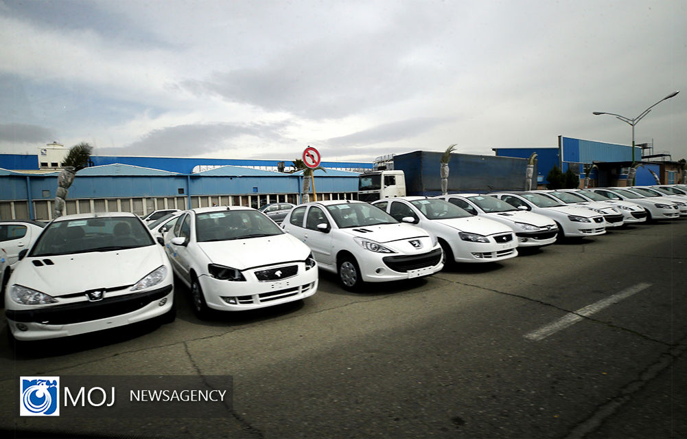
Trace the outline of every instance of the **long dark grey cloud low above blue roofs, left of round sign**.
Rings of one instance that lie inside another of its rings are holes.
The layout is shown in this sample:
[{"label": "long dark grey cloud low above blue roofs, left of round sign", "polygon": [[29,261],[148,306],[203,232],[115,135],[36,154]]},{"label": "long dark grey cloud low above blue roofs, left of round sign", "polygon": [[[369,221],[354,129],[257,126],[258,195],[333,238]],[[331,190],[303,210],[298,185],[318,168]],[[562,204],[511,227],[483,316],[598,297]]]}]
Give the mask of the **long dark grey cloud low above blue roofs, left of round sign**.
[{"label": "long dark grey cloud low above blue roofs, left of round sign", "polygon": [[227,149],[226,142],[240,136],[255,136],[266,141],[282,140],[280,129],[283,127],[282,123],[179,125],[151,131],[142,139],[125,147],[98,148],[97,153],[135,156],[199,156]]}]

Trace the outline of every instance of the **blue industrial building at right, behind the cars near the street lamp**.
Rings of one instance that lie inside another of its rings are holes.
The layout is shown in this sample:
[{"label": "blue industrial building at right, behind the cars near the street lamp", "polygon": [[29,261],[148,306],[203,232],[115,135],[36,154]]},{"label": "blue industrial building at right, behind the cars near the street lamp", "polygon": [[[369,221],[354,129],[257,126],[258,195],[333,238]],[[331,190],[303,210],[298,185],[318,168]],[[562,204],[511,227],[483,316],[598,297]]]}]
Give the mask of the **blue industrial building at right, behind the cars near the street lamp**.
[{"label": "blue industrial building at right, behind the cars near the street lamp", "polygon": [[[537,153],[537,183],[539,185],[548,183],[546,175],[554,165],[562,172],[566,172],[568,168],[572,169],[582,180],[592,164],[598,167],[598,171],[593,169],[589,175],[594,186],[626,185],[627,171],[632,164],[631,146],[563,136],[559,136],[558,143],[558,147],[503,147],[493,148],[493,151],[497,156],[516,158],[529,158],[532,153]],[[641,157],[641,147],[635,147],[635,159],[640,160]],[[656,180],[651,171],[660,173],[660,165],[644,162],[643,166],[637,170],[635,184],[655,184]]]}]

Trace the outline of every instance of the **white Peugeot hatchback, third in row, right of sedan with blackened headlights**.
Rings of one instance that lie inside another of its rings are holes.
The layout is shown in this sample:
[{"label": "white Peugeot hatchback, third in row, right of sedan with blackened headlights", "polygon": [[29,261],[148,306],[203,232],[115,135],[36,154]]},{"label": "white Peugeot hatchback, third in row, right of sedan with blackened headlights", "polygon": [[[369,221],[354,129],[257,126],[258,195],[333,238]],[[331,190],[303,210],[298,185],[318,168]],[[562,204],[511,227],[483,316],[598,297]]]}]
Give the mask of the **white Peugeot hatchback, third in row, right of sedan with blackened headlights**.
[{"label": "white Peugeot hatchback, third in row, right of sedan with blackened headlights", "polygon": [[436,237],[371,204],[332,200],[293,208],[282,228],[313,250],[343,288],[433,275],[444,266]]}]

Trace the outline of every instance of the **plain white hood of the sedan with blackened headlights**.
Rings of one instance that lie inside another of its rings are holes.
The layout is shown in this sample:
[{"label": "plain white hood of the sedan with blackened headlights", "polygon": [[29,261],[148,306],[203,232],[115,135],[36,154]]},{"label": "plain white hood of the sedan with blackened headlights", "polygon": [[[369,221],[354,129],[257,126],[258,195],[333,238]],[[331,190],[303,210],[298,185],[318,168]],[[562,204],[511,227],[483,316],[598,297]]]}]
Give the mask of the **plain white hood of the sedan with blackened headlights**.
[{"label": "plain white hood of the sedan with blackened headlights", "polygon": [[310,254],[308,246],[289,233],[231,241],[199,242],[196,244],[212,264],[237,270],[304,261]]}]

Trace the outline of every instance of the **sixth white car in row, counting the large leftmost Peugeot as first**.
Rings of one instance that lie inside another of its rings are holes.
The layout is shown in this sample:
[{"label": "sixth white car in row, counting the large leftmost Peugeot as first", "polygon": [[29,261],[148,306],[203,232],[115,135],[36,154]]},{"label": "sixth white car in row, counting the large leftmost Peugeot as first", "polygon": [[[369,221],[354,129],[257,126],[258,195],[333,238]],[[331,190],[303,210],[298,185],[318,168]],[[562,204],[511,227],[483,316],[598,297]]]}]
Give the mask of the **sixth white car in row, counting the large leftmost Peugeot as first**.
[{"label": "sixth white car in row, counting the large leftmost Peugeot as first", "polygon": [[524,211],[539,213],[556,222],[561,237],[597,236],[606,233],[603,216],[587,208],[566,206],[551,197],[535,192],[491,193]]}]

